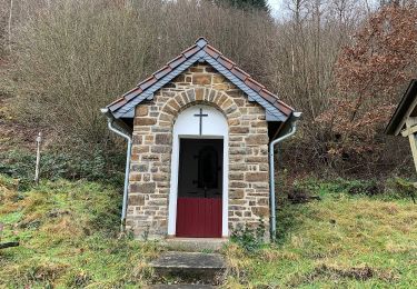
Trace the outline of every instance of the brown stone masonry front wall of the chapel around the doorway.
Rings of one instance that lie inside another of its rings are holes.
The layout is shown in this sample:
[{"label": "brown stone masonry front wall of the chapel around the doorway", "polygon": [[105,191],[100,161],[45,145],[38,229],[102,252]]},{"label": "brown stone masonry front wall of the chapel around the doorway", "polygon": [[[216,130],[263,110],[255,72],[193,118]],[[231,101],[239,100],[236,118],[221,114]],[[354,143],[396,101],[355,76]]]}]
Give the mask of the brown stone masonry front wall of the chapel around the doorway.
[{"label": "brown stone masonry front wall of the chapel around the doorway", "polygon": [[217,108],[229,124],[229,233],[260,219],[269,228],[265,110],[210,66],[198,63],[136,108],[127,228],[137,238],[167,235],[172,127],[197,103]]}]

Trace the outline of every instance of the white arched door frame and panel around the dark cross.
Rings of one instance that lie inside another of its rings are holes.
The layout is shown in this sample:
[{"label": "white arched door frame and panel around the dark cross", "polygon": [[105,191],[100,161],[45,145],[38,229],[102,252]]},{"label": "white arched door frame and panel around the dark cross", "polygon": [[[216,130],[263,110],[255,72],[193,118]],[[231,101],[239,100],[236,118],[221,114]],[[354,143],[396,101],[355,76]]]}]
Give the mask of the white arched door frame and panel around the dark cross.
[{"label": "white arched door frame and panel around the dark cross", "polygon": [[[208,117],[202,119],[201,134],[199,133],[199,119],[195,117],[200,108]],[[179,169],[179,143],[180,139],[222,139],[224,163],[222,163],[222,211],[221,211],[221,237],[229,236],[229,128],[226,117],[209,106],[196,104],[183,110],[177,118],[172,129],[172,155],[171,155],[171,179],[168,207],[168,236],[176,236],[177,226],[177,198],[178,198],[178,169]]]}]

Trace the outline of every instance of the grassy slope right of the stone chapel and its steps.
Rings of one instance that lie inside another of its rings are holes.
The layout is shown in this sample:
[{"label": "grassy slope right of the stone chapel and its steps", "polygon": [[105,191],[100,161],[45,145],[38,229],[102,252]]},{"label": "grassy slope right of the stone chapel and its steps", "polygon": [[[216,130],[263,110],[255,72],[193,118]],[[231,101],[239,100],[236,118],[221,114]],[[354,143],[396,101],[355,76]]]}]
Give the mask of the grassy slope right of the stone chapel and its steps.
[{"label": "grassy slope right of the stone chapel and its steps", "polygon": [[351,196],[341,180],[312,185],[320,201],[279,206],[277,245],[226,249],[227,287],[417,288],[417,205]]}]

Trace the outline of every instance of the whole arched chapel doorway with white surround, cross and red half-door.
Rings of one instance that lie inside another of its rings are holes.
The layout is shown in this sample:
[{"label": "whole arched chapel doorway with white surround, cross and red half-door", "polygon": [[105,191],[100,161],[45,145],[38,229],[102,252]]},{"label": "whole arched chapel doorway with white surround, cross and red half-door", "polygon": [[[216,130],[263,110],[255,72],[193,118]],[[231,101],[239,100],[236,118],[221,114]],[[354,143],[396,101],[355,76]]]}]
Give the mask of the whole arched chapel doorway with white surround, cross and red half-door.
[{"label": "whole arched chapel doorway with white surround, cross and red half-door", "polygon": [[183,110],[173,126],[168,235],[228,236],[228,123],[210,106]]}]

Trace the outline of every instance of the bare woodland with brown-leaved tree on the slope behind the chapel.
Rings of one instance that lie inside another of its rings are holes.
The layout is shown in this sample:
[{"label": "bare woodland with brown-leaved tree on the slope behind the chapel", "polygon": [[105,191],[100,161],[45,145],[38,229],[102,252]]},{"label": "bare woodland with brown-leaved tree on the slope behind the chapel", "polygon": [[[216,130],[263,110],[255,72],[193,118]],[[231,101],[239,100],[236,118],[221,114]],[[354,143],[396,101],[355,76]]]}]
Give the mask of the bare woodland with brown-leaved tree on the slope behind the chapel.
[{"label": "bare woodland with brown-leaved tree on the slope behind the chapel", "polygon": [[3,141],[2,158],[32,158],[24,148],[41,131],[46,177],[115,175],[125,144],[99,109],[202,36],[302,112],[279,157],[286,173],[409,176],[407,140],[384,129],[415,73],[414,1],[281,7],[272,16],[266,1],[2,0],[0,126],[26,143]]}]

